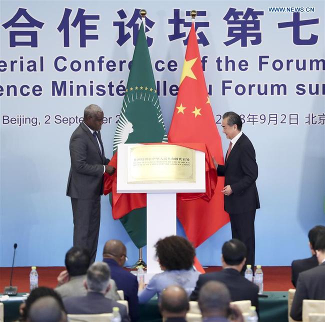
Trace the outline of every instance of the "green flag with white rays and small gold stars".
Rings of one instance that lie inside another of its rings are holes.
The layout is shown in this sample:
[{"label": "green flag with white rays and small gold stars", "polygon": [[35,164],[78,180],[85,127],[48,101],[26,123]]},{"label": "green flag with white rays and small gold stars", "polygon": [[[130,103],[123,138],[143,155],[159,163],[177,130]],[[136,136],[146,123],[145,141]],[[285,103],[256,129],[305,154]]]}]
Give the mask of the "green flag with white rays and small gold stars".
[{"label": "green flag with white rays and small gold stars", "polygon": [[[113,153],[119,143],[148,142],[167,142],[167,135],[141,23],[114,134]],[[138,248],[146,244],[145,207],[133,209],[120,221]]]}]

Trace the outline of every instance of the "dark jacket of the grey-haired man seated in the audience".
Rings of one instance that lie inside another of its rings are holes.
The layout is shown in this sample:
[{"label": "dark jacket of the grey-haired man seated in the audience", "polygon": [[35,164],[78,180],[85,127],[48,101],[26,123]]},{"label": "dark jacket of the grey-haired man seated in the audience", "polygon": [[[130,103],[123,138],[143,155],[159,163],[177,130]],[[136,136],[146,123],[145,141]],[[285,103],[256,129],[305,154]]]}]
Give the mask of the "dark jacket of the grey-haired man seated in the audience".
[{"label": "dark jacket of the grey-haired man seated in the audience", "polygon": [[119,308],[123,322],[128,322],[126,306],[105,297],[101,293],[88,292],[85,296],[63,298],[63,304],[68,314],[100,314],[111,313],[114,306]]}]

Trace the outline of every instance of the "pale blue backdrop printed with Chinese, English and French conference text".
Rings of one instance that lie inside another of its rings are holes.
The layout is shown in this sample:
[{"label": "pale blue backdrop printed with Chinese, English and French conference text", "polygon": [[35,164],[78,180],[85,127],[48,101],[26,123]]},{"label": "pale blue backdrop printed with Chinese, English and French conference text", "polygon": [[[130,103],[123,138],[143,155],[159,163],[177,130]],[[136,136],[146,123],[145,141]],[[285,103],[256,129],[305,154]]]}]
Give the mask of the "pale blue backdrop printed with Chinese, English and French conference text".
[{"label": "pale blue backdrop printed with Chinese, English and French conference text", "polygon": [[[289,265],[308,256],[308,230],[325,224],[325,8],[324,1],[282,2],[1,0],[0,266],[11,265],[14,242],[18,266],[63,265],[73,228],[65,196],[69,137],[84,107],[96,103],[111,117],[101,133],[111,156],[142,7],[167,130],[188,10],[198,10],[199,49],[223,150],[220,115],[228,110],[242,114],[256,150],[255,262]],[[79,93],[77,85],[84,87]],[[220,264],[230,237],[227,224],[200,245],[201,263]],[[126,244],[127,264],[134,263],[137,249],[103,196],[98,260],[110,238]]]}]

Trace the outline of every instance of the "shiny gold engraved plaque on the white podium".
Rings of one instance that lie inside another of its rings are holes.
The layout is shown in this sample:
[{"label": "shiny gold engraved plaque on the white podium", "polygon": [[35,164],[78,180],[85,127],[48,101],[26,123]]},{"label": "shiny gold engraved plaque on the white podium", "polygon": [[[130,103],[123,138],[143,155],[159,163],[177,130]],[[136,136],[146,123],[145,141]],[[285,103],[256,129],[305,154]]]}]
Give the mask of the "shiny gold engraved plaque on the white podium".
[{"label": "shiny gold engraved plaque on the white podium", "polygon": [[127,183],[195,182],[195,150],[173,144],[129,147]]}]

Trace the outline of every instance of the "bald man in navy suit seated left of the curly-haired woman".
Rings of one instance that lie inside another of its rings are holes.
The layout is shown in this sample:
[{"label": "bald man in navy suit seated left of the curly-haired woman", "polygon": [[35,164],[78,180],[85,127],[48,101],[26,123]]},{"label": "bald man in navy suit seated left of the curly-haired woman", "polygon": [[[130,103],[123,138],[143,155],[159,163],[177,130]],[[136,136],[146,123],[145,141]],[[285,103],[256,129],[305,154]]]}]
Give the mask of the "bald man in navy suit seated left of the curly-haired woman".
[{"label": "bald man in navy suit seated left of the curly-haired woman", "polygon": [[126,247],[120,240],[106,241],[102,252],[102,261],[105,262],[111,272],[118,289],[124,292],[124,299],[128,302],[129,315],[132,322],[138,317],[138,283],[136,276],[123,268],[126,260]]}]

